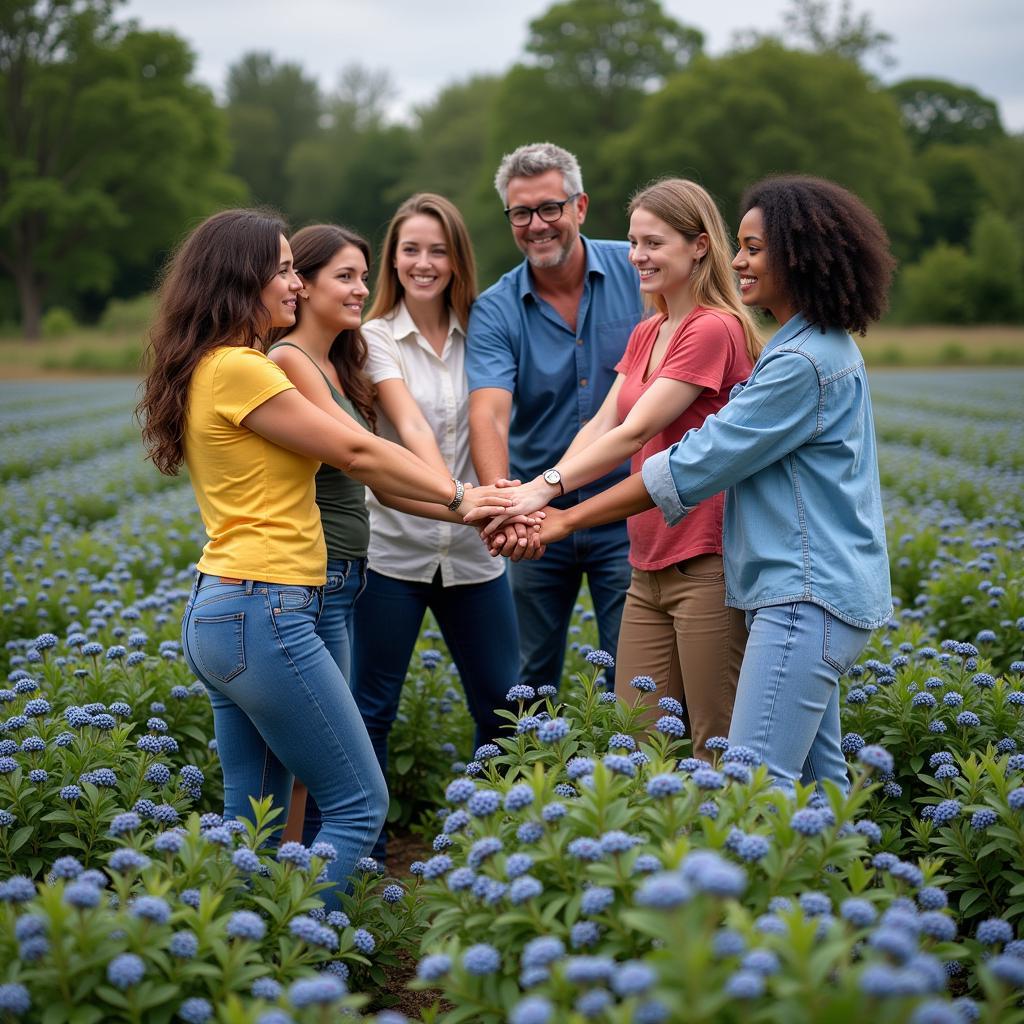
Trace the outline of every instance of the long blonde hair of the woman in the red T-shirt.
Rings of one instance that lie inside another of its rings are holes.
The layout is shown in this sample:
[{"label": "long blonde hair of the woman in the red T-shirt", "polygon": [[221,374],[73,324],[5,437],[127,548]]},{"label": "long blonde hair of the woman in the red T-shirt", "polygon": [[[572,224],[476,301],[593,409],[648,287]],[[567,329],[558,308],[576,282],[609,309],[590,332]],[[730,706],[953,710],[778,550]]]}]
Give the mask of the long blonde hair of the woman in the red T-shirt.
[{"label": "long blonde hair of the woman in the red T-shirt", "polygon": [[[689,242],[698,234],[708,236],[708,252],[690,271],[690,294],[696,305],[720,309],[739,321],[746,339],[746,352],[756,360],[764,342],[754,316],[739,300],[736,275],[732,270],[732,246],[715,201],[695,181],[664,178],[642,188],[630,201],[631,214],[641,209],[664,220]],[[660,295],[655,296],[654,305],[658,311],[668,312]]]}]

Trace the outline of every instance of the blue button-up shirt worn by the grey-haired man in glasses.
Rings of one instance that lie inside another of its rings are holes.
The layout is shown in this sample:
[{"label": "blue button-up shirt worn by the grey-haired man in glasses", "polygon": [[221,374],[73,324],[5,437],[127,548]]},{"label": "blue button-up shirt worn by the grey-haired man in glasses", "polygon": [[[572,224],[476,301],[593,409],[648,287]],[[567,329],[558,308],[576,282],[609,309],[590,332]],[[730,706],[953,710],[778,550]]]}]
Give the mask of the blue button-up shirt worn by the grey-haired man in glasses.
[{"label": "blue button-up shirt worn by the grey-haired man in glasses", "polygon": [[[574,331],[537,294],[525,260],[476,300],[469,317],[469,389],[512,392],[509,463],[512,475],[522,480],[549,469],[600,409],[615,379],[615,364],[643,315],[629,245],[583,242],[587,263]],[[624,463],[582,487],[577,499],[628,473]]]}]

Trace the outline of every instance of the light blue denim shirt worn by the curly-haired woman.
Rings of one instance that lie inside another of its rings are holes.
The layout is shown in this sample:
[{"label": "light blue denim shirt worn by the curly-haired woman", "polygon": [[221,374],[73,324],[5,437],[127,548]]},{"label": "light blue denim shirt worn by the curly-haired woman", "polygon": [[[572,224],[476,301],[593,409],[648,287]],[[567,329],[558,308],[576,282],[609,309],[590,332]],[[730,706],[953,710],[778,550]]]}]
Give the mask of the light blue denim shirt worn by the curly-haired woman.
[{"label": "light blue denim shirt worn by the curly-haired woman", "polygon": [[726,490],[726,604],[811,601],[863,629],[892,614],[871,398],[844,332],[787,321],[728,403],[642,472],[670,526]]}]

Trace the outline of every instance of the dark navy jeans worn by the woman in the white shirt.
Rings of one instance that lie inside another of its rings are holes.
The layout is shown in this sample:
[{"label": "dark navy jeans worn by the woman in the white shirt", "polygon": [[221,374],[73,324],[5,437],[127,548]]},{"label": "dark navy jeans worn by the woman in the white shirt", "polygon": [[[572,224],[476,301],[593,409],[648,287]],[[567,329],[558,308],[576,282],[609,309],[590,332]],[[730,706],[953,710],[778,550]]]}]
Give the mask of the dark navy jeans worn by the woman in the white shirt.
[{"label": "dark navy jeans worn by the woman in the white shirt", "polygon": [[[444,587],[438,572],[431,583],[395,580],[373,569],[355,609],[355,702],[367,723],[381,768],[387,768],[387,737],[398,714],[401,687],[427,609],[459,670],[466,701],[476,723],[477,744],[507,723],[495,709],[507,708],[505,694],[517,682],[518,635],[512,595],[505,575],[486,583]],[[444,737],[439,736],[438,742]],[[383,857],[384,838],[374,851]]]}]

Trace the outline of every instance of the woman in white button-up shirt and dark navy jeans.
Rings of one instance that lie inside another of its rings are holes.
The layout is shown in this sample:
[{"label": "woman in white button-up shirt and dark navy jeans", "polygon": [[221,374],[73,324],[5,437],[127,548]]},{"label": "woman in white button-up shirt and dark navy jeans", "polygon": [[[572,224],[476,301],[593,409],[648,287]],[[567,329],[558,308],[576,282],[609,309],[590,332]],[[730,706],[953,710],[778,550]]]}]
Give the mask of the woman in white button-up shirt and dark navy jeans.
[{"label": "woman in white button-up shirt and dark navy jeans", "polygon": [[[362,326],[380,432],[471,480],[464,365],[476,274],[462,215],[441,196],[413,196],[391,219],[380,265]],[[459,670],[477,743],[502,724],[494,712],[516,682],[519,644],[505,562],[489,556],[475,529],[456,515],[422,519],[372,497],[368,504],[370,571],[355,610],[353,684],[386,770],[388,732],[428,608]]]}]

